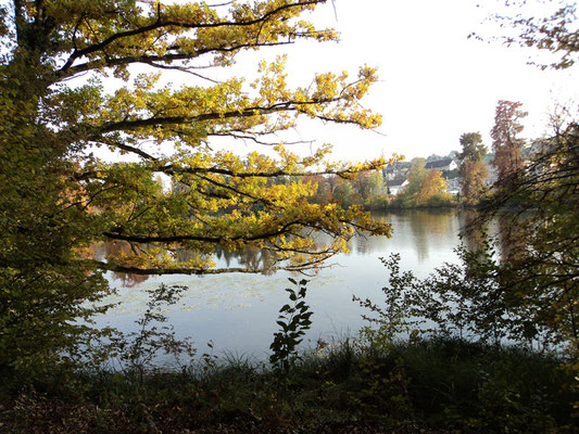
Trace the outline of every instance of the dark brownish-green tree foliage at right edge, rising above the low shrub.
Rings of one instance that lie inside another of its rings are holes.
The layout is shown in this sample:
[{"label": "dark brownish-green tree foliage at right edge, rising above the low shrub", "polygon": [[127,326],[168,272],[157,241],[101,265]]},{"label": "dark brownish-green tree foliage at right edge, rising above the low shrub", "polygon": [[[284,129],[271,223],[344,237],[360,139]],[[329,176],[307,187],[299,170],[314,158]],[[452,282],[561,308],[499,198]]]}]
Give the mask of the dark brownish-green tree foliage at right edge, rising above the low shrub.
[{"label": "dark brownish-green tree foliage at right edge, rising above the low shrub", "polygon": [[507,240],[521,231],[525,235],[502,267],[505,281],[517,289],[519,303],[532,308],[534,321],[576,343],[578,130],[575,122],[559,125],[540,143],[530,164],[505,179],[484,208],[486,218],[491,218],[505,206],[517,207],[517,213],[503,215]]}]

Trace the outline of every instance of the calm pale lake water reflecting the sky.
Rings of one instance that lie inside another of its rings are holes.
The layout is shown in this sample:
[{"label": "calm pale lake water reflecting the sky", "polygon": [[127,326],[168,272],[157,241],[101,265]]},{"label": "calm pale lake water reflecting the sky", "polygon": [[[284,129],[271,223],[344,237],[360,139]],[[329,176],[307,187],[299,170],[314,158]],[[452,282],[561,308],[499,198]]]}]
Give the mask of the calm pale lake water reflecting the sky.
[{"label": "calm pale lake water reflecting the sky", "polygon": [[[366,323],[361,318],[365,311],[352,302],[352,295],[383,299],[380,289],[388,280],[380,257],[400,253],[401,269],[425,277],[444,263],[457,261],[454,248],[460,244],[460,232],[465,214],[458,210],[405,210],[373,214],[392,225],[393,237],[356,237],[350,242],[350,253],[335,256],[331,268],[323,269],[310,279],[306,303],[312,307],[312,328],[304,345],[315,346],[318,339],[354,336]],[[97,251],[103,255],[104,247]],[[252,256],[252,255],[250,255]],[[226,261],[255,260],[222,257]],[[179,302],[166,310],[178,337],[191,336],[196,346],[206,349],[212,342],[218,355],[228,352],[237,356],[266,359],[273,334],[277,331],[279,308],[288,302],[286,288],[292,286],[288,278],[297,280],[302,275],[278,271],[272,276],[229,273],[218,276],[162,276],[130,277],[109,273],[111,284],[118,289],[114,301],[122,302],[106,316],[97,319],[100,326],[112,326],[122,331],[136,330],[134,321],[146,309],[146,290],[159,284],[187,285],[189,290]]]}]

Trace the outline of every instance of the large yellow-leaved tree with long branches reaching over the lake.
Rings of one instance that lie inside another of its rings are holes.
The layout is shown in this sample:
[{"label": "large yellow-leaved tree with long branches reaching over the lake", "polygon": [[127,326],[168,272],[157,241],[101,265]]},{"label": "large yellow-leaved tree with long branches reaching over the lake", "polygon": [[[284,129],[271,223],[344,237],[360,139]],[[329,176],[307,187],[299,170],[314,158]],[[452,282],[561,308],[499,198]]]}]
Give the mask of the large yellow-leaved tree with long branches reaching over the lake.
[{"label": "large yellow-leaved tree with long branches reaching over the lake", "polygon": [[[243,50],[335,40],[333,30],[300,18],[324,2],[14,0],[2,7],[0,367],[52,360],[78,342],[87,327],[77,319],[104,309],[91,306],[109,291],[105,270],[260,271],[214,268],[215,248],[246,246],[270,251],[273,269],[297,270],[344,248],[355,228],[389,233],[356,208],[309,203],[315,187],[299,180],[316,175],[313,167],[353,178],[381,167],[381,159],[324,163],[328,146],[310,157],[282,143],[275,157],[207,146],[214,137],[274,144],[274,135],[300,116],[379,125],[378,115],[358,105],[376,80],[367,66],[352,81],[347,73],[326,73],[298,89],[286,82],[284,58],[262,62],[250,86],[210,75]],[[163,85],[164,71],[193,81]],[[103,82],[108,76],[116,78],[113,91]],[[131,163],[106,163],[98,148]],[[181,187],[164,191],[159,174]],[[332,241],[315,245],[306,229]],[[83,254],[95,241],[131,248],[97,261]]]}]

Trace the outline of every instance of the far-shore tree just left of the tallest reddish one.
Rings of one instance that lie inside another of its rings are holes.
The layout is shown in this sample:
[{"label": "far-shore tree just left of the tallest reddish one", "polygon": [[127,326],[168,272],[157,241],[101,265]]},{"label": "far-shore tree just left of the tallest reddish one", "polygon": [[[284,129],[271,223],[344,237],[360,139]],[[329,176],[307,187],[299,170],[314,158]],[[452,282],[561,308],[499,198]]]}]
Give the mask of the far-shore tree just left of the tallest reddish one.
[{"label": "far-shore tree just left of the tallest reddish one", "polygon": [[487,148],[482,143],[480,132],[465,132],[461,136],[463,152],[460,154],[461,166],[458,173],[462,179],[463,197],[466,204],[477,204],[484,192],[487,168],[482,157]]}]

